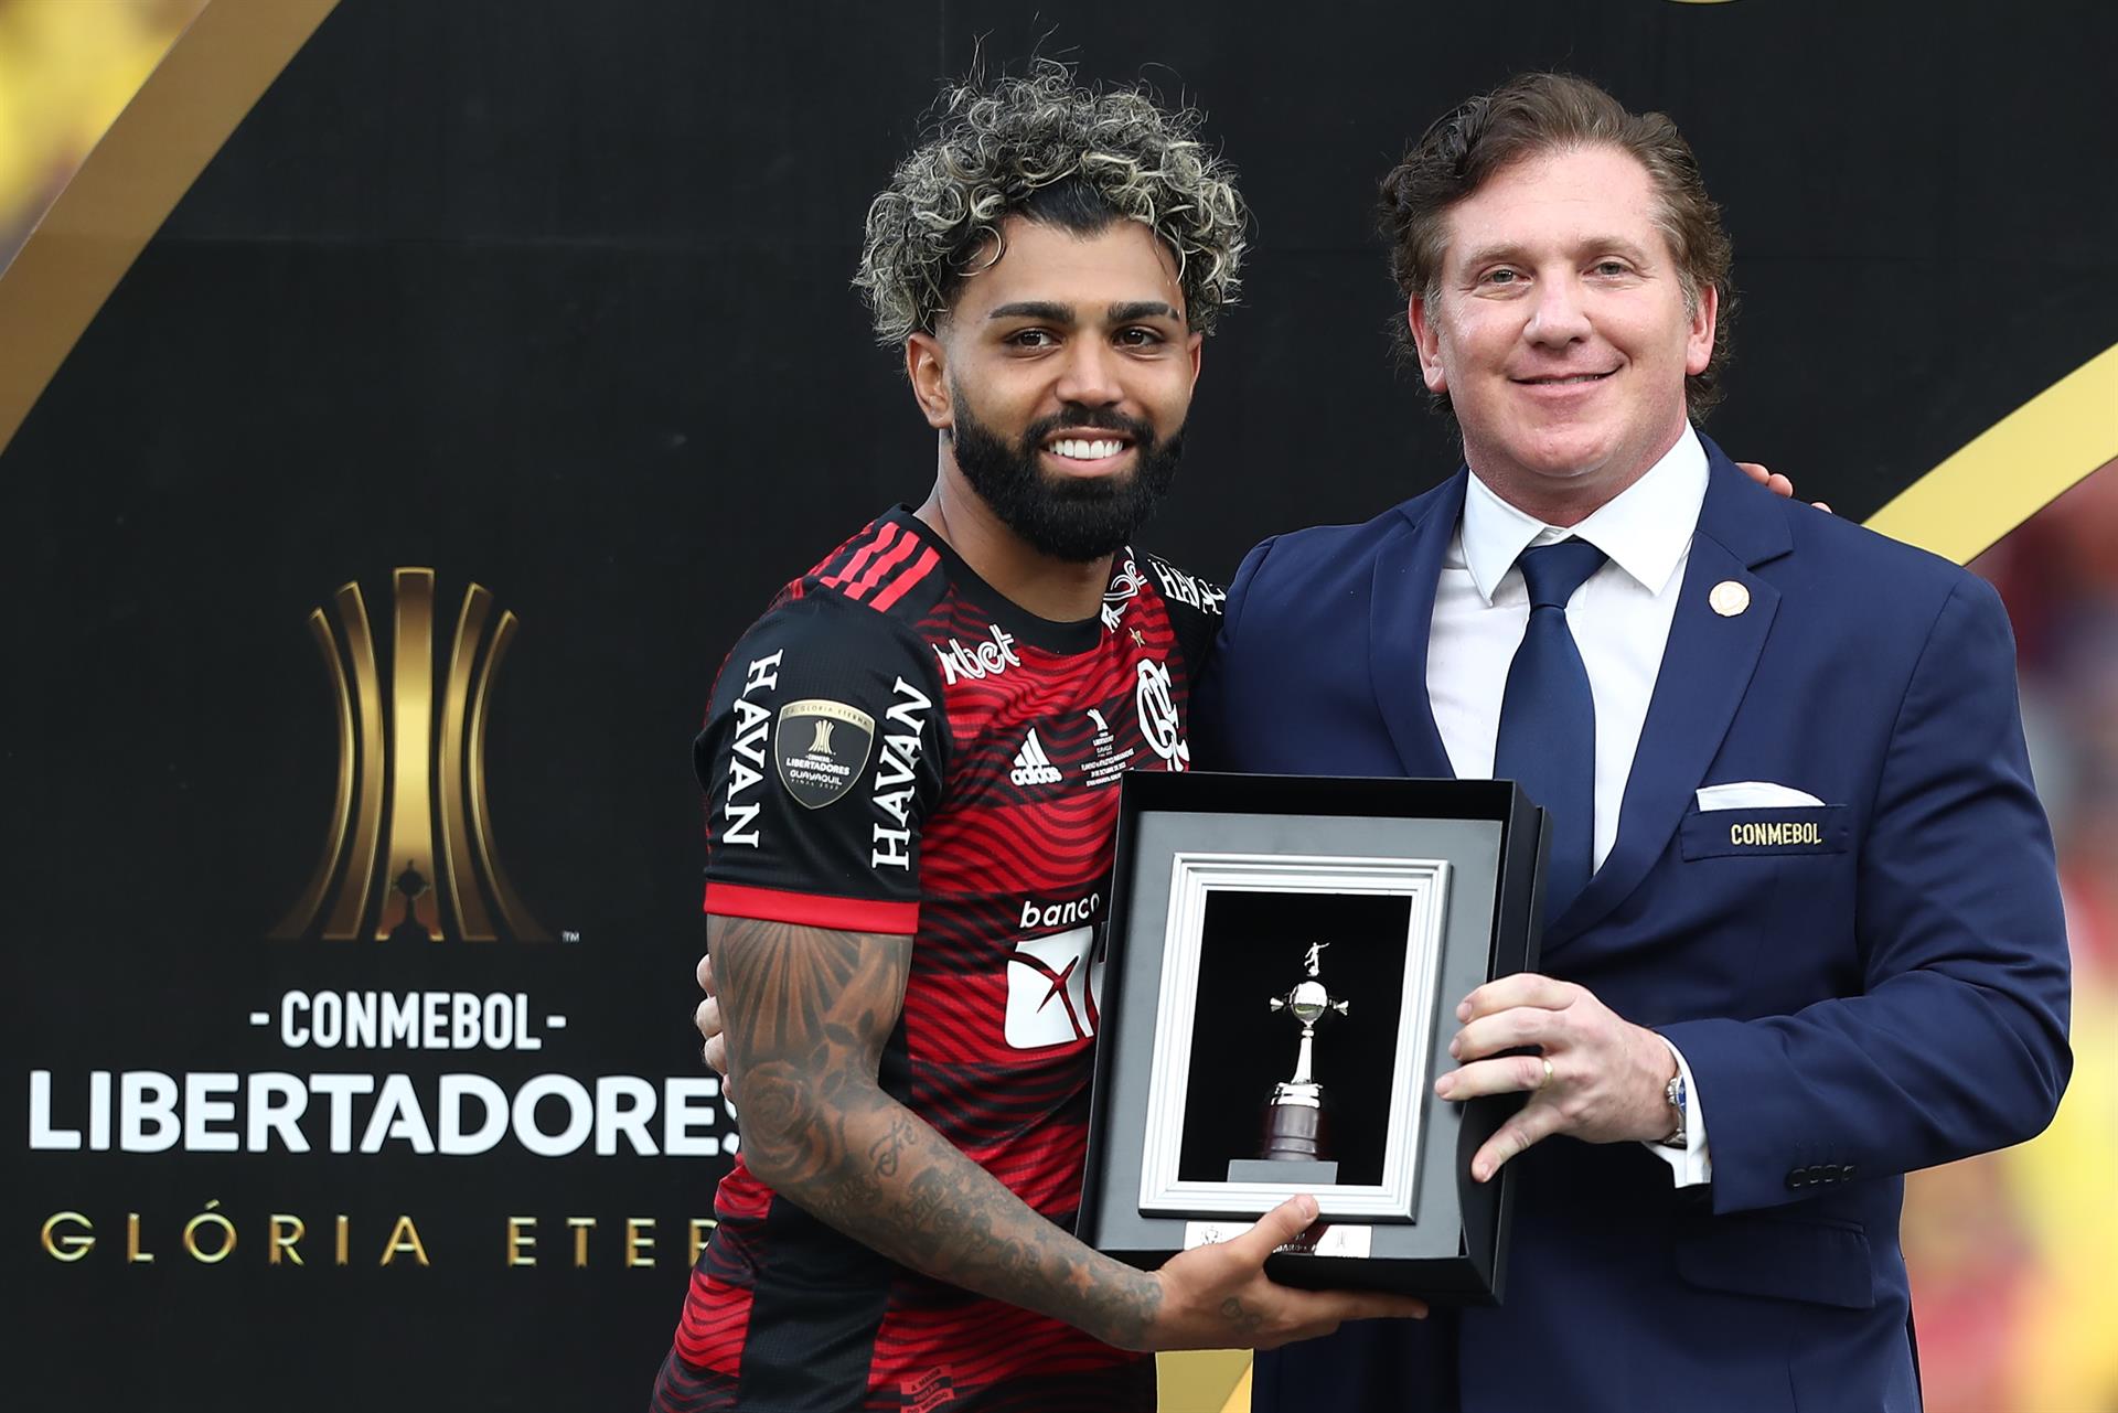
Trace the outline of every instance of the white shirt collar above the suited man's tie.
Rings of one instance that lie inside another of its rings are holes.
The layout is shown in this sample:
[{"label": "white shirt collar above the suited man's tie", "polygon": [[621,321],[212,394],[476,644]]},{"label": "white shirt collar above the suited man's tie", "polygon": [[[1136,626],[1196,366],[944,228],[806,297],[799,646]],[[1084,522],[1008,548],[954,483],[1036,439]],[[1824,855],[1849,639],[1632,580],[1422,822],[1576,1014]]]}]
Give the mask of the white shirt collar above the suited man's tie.
[{"label": "white shirt collar above the suited man's tie", "polygon": [[1502,576],[1525,549],[1578,536],[1610,555],[1648,593],[1661,593],[1692,544],[1705,500],[1707,449],[1690,422],[1648,475],[1569,530],[1516,511],[1472,475],[1464,496],[1464,564],[1478,595],[1491,604]]}]

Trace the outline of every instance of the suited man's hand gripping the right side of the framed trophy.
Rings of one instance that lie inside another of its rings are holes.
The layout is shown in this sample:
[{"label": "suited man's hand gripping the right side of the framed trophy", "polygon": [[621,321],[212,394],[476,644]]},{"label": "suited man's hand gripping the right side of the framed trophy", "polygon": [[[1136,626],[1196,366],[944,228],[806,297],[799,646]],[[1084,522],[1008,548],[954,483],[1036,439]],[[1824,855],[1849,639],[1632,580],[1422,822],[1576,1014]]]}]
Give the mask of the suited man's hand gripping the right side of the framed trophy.
[{"label": "suited man's hand gripping the right side of the framed trophy", "polygon": [[[1449,1042],[1457,1070],[1434,1080],[1442,1099],[1529,1093],[1529,1102],[1470,1161],[1487,1182],[1500,1165],[1552,1133],[1591,1144],[1652,1142],[1669,1133],[1665,1097],[1677,1059],[1652,1030],[1633,1025],[1586,987],[1538,972],[1489,981],[1457,1006]],[[1531,1047],[1536,1055],[1502,1055]]]}]

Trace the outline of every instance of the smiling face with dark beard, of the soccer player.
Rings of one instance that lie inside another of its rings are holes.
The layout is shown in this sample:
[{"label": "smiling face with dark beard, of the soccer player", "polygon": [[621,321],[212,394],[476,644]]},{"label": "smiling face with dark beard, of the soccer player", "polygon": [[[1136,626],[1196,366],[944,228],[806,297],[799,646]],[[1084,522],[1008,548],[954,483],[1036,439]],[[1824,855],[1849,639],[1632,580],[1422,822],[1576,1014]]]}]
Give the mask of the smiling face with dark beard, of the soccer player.
[{"label": "smiling face with dark beard, of the soccer player", "polygon": [[943,328],[907,341],[913,392],[949,436],[945,477],[1036,553],[1087,564],[1169,487],[1201,339],[1148,227],[1076,235],[1012,216],[1002,235]]}]

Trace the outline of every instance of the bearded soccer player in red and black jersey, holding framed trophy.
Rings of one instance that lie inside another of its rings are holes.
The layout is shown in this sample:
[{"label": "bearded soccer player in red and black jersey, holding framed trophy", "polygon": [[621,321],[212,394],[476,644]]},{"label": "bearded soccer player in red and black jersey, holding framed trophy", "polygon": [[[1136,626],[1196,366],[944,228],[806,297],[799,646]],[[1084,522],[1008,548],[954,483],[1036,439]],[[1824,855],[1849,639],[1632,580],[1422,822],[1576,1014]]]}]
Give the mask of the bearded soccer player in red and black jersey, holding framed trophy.
[{"label": "bearded soccer player in red and black jersey, holding framed trophy", "polygon": [[1186,769],[1220,608],[1131,549],[1243,256],[1195,125],[1044,64],[868,212],[938,470],[773,600],[695,748],[743,1148],[654,1409],[1144,1411],[1139,1352],[1423,1313],[1269,1282],[1307,1197],[1152,1273],[1070,1235],[1118,775]]}]

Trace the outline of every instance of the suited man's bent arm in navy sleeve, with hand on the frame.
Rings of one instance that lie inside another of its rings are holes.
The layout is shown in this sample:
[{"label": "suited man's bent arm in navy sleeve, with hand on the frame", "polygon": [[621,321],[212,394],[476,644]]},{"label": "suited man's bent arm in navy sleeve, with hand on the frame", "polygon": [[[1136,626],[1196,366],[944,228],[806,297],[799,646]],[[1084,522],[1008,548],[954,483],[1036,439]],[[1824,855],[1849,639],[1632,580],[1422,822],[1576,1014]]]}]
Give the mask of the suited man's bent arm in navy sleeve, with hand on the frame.
[{"label": "suited man's bent arm in navy sleeve, with hand on the frame", "polygon": [[[1959,578],[1936,614],[1857,847],[1855,994],[1648,1032],[1548,977],[1472,991],[1453,1049],[1466,1063],[1436,1093],[1529,1091],[1474,1155],[1474,1176],[1550,1133],[1667,1135],[1671,1047],[1711,1112],[1716,1212],[2042,1131],[2071,1068],[2067,938],[2023,748],[2014,640],[1982,580]],[[1544,1053],[1500,1055],[1525,1044]]]}]

